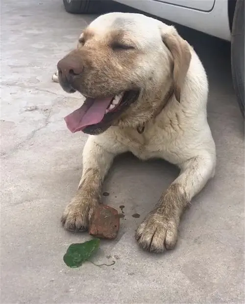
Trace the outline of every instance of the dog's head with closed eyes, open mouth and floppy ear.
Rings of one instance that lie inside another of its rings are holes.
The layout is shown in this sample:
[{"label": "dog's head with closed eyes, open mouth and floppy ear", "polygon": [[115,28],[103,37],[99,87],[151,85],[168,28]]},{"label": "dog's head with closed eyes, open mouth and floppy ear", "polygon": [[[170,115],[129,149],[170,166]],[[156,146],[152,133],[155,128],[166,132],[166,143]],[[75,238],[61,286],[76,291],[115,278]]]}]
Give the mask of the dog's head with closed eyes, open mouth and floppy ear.
[{"label": "dog's head with closed eyes, open mouth and floppy ear", "polygon": [[69,129],[99,134],[111,125],[142,125],[171,89],[180,101],[190,60],[190,47],[173,26],[141,14],[98,17],[57,65],[62,88],[86,97],[66,117]]}]

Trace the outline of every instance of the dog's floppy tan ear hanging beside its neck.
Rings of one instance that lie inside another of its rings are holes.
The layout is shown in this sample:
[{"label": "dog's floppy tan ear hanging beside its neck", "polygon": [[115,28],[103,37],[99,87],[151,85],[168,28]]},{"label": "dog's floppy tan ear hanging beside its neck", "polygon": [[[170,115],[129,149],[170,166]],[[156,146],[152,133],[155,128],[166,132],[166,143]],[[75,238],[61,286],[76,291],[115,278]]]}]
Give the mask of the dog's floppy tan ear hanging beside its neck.
[{"label": "dog's floppy tan ear hanging beside its neck", "polygon": [[173,26],[161,29],[162,41],[170,50],[173,57],[174,95],[180,102],[180,92],[190,66],[191,52],[189,44],[180,37]]}]

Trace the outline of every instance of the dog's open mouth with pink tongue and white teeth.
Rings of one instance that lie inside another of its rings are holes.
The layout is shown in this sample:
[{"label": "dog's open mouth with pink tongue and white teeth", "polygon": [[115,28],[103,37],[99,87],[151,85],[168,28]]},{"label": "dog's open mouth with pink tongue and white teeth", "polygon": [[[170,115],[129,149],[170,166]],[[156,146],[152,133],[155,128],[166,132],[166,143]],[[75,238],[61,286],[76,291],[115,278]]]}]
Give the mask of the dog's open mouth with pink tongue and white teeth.
[{"label": "dog's open mouth with pink tongue and white teeth", "polygon": [[124,91],[103,98],[87,97],[79,109],[65,117],[67,127],[72,133],[102,133],[120,117],[138,95],[139,91]]}]

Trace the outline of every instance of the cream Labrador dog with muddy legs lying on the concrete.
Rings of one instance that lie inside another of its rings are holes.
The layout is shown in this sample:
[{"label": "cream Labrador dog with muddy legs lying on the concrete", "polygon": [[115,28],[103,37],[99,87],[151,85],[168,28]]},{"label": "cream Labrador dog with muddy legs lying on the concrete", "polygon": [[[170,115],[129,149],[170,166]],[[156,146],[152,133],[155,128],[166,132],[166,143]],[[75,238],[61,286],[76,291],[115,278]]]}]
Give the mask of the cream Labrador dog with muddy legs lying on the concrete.
[{"label": "cream Labrador dog with muddy legs lying on the concrete", "polygon": [[149,252],[172,249],[181,214],[216,166],[208,80],[194,48],[172,25],[143,14],[108,13],[84,29],[57,68],[53,80],[86,97],[65,117],[67,126],[89,134],[81,180],[61,218],[64,228],[88,229],[113,159],[132,152],[180,169],[135,234]]}]

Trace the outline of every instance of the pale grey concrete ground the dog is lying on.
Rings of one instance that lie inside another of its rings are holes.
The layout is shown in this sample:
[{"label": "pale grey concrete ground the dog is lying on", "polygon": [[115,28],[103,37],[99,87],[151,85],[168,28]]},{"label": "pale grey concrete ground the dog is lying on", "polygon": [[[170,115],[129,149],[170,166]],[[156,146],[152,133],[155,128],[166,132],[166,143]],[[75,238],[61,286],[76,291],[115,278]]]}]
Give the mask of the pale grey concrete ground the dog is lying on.
[{"label": "pale grey concrete ground the dog is lying on", "polygon": [[87,136],[71,134],[63,120],[80,96],[63,92],[51,75],[94,18],[66,13],[61,0],[1,3],[1,303],[244,303],[244,121],[229,44],[183,27],[210,80],[215,178],[183,216],[176,248],[148,254],[134,231],[178,171],[163,161],[119,157],[104,202],[124,205],[125,217],[118,239],[102,241],[93,258],[115,265],[64,264],[71,243],[90,239],[60,225]]}]

